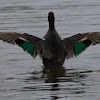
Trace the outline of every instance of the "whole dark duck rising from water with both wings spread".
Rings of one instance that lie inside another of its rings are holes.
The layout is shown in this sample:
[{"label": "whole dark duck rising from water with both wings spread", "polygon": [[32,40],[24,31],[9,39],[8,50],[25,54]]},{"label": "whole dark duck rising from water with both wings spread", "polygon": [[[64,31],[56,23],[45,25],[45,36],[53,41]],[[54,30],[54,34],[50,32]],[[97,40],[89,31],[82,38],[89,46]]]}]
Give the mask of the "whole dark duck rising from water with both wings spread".
[{"label": "whole dark duck rising from water with both wings spread", "polygon": [[100,43],[100,32],[77,33],[61,38],[55,29],[55,16],[48,13],[49,29],[43,38],[28,33],[0,32],[0,40],[18,45],[33,58],[42,58],[45,67],[63,66],[65,59],[77,57],[91,45]]}]

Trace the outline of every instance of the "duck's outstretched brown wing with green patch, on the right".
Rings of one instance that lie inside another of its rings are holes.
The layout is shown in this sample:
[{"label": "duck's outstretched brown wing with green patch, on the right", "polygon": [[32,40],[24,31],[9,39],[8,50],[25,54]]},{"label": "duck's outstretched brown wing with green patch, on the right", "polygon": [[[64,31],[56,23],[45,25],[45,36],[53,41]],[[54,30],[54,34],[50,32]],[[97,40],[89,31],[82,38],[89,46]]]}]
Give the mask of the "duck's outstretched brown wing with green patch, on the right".
[{"label": "duck's outstretched brown wing with green patch, on the right", "polygon": [[100,32],[77,34],[63,39],[66,49],[66,58],[77,56],[91,44],[100,43]]}]

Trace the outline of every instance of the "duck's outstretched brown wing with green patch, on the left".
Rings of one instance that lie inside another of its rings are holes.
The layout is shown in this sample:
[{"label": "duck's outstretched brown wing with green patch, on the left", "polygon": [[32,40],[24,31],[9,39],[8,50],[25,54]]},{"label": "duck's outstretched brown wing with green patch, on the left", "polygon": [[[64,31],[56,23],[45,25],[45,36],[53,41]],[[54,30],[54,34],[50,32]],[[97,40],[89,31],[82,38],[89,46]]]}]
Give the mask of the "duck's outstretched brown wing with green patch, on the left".
[{"label": "duck's outstretched brown wing with green patch, on the left", "polygon": [[0,32],[0,40],[10,44],[17,44],[22,47],[24,51],[31,54],[31,56],[36,57],[40,52],[40,41],[42,39],[27,33]]}]

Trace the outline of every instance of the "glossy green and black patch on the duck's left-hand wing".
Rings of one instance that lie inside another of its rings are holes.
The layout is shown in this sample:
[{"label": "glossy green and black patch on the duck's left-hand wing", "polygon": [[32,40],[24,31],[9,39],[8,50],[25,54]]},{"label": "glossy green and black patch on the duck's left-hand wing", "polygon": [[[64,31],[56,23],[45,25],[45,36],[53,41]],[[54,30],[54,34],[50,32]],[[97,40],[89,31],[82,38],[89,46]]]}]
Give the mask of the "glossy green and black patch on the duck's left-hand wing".
[{"label": "glossy green and black patch on the duck's left-hand wing", "polygon": [[34,52],[33,44],[27,41],[21,40],[20,38],[16,39],[15,43],[18,44],[20,47],[22,47],[24,51],[27,51],[29,54],[31,54],[31,56],[33,56],[33,52]]}]

